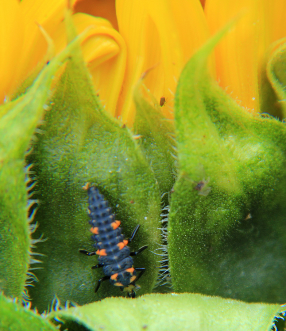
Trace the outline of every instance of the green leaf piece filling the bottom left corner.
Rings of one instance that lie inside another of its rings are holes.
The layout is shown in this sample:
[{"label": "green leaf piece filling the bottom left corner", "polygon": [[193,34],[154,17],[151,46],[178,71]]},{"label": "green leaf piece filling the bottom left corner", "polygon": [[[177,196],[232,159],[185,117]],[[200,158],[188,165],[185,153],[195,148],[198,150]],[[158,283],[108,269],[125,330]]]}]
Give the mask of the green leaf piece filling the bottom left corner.
[{"label": "green leaf piece filling the bottom left corner", "polygon": [[1,331],[56,331],[48,320],[0,293]]}]

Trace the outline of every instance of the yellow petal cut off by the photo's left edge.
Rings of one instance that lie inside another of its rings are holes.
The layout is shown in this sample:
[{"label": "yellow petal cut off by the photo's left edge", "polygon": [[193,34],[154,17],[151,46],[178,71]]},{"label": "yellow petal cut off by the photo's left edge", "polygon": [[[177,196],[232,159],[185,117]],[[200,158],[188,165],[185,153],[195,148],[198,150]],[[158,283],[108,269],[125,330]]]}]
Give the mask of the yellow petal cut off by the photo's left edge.
[{"label": "yellow petal cut off by the photo's left edge", "polygon": [[0,104],[15,88],[23,46],[23,21],[18,0],[4,0],[0,10]]}]

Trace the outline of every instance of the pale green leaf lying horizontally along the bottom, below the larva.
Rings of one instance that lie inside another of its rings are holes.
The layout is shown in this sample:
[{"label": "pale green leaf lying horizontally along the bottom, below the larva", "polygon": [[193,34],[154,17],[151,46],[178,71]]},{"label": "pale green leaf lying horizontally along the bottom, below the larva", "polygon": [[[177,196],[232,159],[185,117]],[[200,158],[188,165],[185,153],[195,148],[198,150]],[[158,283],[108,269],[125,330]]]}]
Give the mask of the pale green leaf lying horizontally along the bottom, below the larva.
[{"label": "pale green leaf lying horizontally along the bottom, below the larva", "polygon": [[[51,312],[64,327],[88,330],[270,330],[279,305],[247,304],[199,294],[150,294],[130,300],[108,298],[82,307]],[[76,322],[76,324],[71,322]],[[79,328],[80,329],[80,328]]]}]

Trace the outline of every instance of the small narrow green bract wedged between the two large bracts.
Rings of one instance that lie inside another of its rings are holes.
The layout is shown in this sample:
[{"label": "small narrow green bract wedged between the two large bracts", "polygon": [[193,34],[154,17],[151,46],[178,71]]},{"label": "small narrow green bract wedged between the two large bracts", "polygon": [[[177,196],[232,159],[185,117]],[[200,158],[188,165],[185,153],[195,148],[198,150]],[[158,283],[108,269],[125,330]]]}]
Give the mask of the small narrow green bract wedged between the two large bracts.
[{"label": "small narrow green bract wedged between the two large bracts", "polygon": [[[139,135],[140,147],[143,150],[159,184],[161,194],[170,192],[175,183],[176,141],[174,123],[163,117],[156,100],[151,105],[143,97],[139,87],[135,89],[134,101],[136,117],[134,130]],[[153,98],[152,98],[153,99]]]}]

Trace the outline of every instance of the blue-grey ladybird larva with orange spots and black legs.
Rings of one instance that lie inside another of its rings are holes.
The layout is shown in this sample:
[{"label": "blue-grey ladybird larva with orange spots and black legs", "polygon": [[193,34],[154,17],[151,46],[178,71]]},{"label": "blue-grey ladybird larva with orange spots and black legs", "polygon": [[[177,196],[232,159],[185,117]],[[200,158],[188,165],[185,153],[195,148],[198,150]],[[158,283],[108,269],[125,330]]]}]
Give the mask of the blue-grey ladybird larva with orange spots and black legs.
[{"label": "blue-grey ladybird larva with orange spots and black legs", "polygon": [[125,236],[121,234],[119,227],[120,221],[115,220],[115,214],[112,213],[108,201],[95,186],[89,186],[87,183],[83,188],[88,193],[89,224],[92,226],[90,231],[93,233],[91,238],[95,241],[94,247],[97,251],[80,250],[80,253],[88,256],[98,255],[98,264],[92,269],[103,267],[105,274],[98,280],[94,292],[97,292],[101,282],[109,279],[112,285],[127,292],[128,297],[135,298],[135,282],[143,275],[145,268],[134,268],[132,256],[139,254],[147,246],[139,248],[136,252],[130,252],[127,244],[134,239],[140,224],[135,227],[129,239],[124,239]]}]

